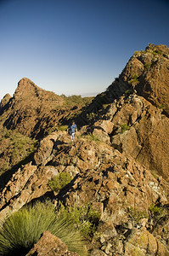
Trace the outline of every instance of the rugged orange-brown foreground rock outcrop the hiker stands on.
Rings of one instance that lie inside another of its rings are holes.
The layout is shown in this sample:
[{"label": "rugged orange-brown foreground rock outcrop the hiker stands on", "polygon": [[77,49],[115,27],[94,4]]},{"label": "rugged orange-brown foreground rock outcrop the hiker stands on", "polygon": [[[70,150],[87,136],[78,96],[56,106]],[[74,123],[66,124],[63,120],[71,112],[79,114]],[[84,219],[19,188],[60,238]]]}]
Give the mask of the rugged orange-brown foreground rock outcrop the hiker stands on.
[{"label": "rugged orange-brown foreground rock outcrop the hiker stands on", "polygon": [[[137,212],[149,212],[150,205],[167,205],[169,187],[166,181],[162,177],[154,177],[132,157],[121,154],[106,143],[82,137],[76,140],[76,145],[70,145],[69,140],[65,132],[61,131],[43,139],[35,154],[37,161],[43,154],[42,164],[35,166],[30,163],[22,167],[3,189],[1,219],[9,210],[17,211],[40,198],[50,197],[55,204],[61,200],[67,207],[76,202],[78,205],[90,202],[101,214],[98,251],[91,249],[92,255],[100,252],[108,255],[116,252],[116,255],[121,255],[121,251],[126,253],[124,255],[130,255],[128,252],[133,248],[146,255],[146,247],[150,247],[150,243],[144,245],[143,242],[141,247],[133,244],[136,236],[138,240],[142,239],[140,236],[148,237],[147,240],[150,237],[155,245],[159,243],[161,250],[167,252],[161,240],[157,241],[146,230],[139,230],[147,223],[148,219],[144,221],[147,217],[138,223],[134,220],[135,215],[132,215],[132,209],[135,209],[137,215]],[[48,151],[44,151],[44,148],[48,148]],[[59,172],[69,172],[72,181],[59,194],[54,194],[48,188],[48,180]],[[146,227],[150,229],[150,223]],[[161,234],[162,241],[168,240],[162,236],[161,230],[156,232],[158,236]]]}]

